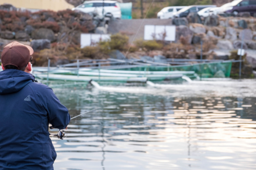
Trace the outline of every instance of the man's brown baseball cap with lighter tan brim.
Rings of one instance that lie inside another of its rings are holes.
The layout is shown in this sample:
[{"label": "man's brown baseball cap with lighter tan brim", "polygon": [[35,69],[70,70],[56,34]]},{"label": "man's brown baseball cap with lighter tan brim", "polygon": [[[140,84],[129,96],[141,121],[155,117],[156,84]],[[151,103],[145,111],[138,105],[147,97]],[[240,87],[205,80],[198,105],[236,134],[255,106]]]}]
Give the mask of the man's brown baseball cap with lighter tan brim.
[{"label": "man's brown baseball cap with lighter tan brim", "polygon": [[14,65],[21,69],[28,64],[33,53],[32,47],[14,41],[4,47],[1,61],[4,67]]}]

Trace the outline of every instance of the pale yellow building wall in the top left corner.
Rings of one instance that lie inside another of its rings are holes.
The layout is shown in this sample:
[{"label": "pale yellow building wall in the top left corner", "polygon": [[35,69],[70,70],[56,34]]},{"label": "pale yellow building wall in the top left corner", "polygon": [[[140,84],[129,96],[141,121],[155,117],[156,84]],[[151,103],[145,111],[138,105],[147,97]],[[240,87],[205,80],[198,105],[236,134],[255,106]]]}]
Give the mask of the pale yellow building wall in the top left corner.
[{"label": "pale yellow building wall in the top left corner", "polygon": [[38,10],[66,10],[74,8],[66,0],[0,0],[0,4],[12,4],[16,8],[30,8]]}]

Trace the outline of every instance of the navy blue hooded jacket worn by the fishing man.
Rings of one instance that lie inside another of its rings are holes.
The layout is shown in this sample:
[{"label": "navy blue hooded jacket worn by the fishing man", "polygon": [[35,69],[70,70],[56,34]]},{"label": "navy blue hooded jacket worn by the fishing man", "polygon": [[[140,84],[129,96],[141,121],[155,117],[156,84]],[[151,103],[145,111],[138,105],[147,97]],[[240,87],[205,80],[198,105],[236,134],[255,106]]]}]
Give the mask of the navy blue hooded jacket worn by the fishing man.
[{"label": "navy blue hooded jacket worn by the fishing man", "polygon": [[68,109],[32,74],[0,72],[0,170],[53,170],[48,125],[64,129],[69,122]]}]

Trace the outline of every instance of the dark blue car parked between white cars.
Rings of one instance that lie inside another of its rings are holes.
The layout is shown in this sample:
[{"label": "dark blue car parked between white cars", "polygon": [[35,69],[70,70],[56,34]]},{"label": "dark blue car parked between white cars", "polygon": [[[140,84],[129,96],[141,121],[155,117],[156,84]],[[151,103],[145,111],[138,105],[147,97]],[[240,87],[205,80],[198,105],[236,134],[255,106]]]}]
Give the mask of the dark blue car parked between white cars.
[{"label": "dark blue car parked between white cars", "polygon": [[191,5],[179,10],[174,17],[186,17],[190,12],[198,12],[204,8],[216,7],[216,5]]}]

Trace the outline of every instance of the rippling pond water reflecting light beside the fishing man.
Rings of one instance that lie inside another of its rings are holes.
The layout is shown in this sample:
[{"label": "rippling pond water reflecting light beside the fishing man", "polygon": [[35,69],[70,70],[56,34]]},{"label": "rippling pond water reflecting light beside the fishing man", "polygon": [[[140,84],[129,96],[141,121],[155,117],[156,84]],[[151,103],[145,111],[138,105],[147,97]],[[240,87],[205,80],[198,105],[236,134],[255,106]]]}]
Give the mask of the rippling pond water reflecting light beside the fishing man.
[{"label": "rippling pond water reflecting light beside the fishing man", "polygon": [[[56,170],[255,170],[256,80],[53,88],[71,117]],[[51,130],[52,131],[52,130]],[[53,132],[53,131],[52,131]]]}]

